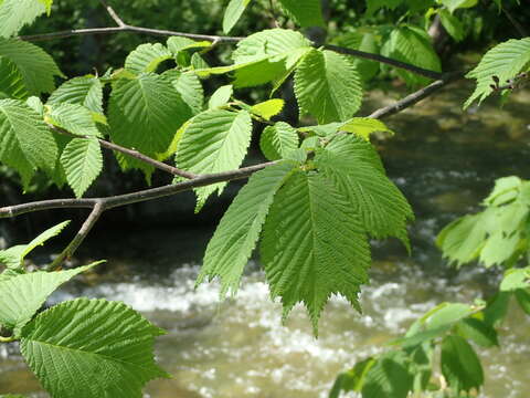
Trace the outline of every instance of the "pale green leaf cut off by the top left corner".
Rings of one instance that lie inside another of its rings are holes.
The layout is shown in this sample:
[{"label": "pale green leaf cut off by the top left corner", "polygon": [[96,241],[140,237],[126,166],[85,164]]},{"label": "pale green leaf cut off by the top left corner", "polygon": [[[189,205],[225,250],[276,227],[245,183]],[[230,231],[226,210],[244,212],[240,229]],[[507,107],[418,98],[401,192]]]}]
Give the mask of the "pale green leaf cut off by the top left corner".
[{"label": "pale green leaf cut off by the top left corner", "polygon": [[[33,23],[36,17],[49,10],[45,0],[3,0],[0,2],[0,36],[17,34],[22,27]],[[50,3],[50,0],[46,1]]]}]

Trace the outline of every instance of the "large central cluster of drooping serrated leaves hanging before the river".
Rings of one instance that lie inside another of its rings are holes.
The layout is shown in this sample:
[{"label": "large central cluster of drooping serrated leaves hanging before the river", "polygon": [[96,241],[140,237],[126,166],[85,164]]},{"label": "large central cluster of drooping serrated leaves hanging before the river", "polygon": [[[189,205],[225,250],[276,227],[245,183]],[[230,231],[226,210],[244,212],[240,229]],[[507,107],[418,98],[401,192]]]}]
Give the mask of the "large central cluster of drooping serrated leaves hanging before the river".
[{"label": "large central cluster of drooping serrated leaves hanging before the river", "polygon": [[[374,121],[361,122],[367,128]],[[275,133],[276,143],[267,144],[272,151],[296,143],[294,130],[279,126]],[[262,262],[272,296],[282,297],[285,315],[303,302],[317,332],[331,294],[359,307],[360,285],[368,282],[370,265],[368,238],[391,235],[407,245],[405,226],[412,210],[365,139],[333,134],[306,138],[301,149],[251,177],[210,241],[198,283],[219,276],[223,294],[235,293],[263,229]]]}]

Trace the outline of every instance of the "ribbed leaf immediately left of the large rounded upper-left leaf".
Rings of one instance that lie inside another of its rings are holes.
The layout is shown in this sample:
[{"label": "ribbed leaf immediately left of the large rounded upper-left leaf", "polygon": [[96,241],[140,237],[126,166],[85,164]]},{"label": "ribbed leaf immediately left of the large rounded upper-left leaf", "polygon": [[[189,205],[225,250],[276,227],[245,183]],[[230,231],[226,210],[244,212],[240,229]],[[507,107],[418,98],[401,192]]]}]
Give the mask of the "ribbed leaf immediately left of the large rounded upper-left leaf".
[{"label": "ribbed leaf immediately left of the large rounded upper-left leaf", "polygon": [[55,90],[47,104],[77,104],[103,115],[103,84],[94,76],[74,77]]}]

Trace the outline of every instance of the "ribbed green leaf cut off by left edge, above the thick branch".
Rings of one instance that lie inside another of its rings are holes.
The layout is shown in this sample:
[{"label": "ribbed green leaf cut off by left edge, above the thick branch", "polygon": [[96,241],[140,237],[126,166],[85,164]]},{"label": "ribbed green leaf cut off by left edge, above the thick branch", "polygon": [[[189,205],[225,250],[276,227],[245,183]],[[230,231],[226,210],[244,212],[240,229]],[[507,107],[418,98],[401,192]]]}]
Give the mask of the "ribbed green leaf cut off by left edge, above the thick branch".
[{"label": "ribbed green leaf cut off by left edge, above the thick branch", "polygon": [[52,172],[57,145],[41,116],[23,101],[0,100],[0,160],[28,187],[35,168]]}]

